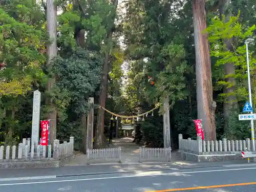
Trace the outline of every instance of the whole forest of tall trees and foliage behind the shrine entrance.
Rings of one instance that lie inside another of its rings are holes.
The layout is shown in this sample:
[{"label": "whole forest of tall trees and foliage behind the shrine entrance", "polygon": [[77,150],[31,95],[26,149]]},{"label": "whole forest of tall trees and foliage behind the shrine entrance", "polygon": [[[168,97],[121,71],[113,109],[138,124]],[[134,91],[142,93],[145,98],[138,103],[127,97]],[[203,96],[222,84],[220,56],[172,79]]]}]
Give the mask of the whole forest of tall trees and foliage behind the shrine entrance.
[{"label": "whole forest of tall trees and foliage behind the shrine entrance", "polygon": [[[238,114],[248,100],[244,41],[256,34],[252,0],[57,0],[53,6],[56,20],[48,22],[56,30],[49,33],[45,1],[0,2],[1,144],[30,137],[35,90],[40,119],[56,119],[50,142],[72,135],[81,151],[89,97],[94,107],[135,115],[167,97],[173,147],[178,134],[196,137],[193,119],[200,117],[207,139],[250,136]],[[255,108],[254,51],[249,45]],[[163,145],[161,109],[136,122],[143,142],[154,147]],[[94,111],[94,145],[101,147],[111,115]]]}]

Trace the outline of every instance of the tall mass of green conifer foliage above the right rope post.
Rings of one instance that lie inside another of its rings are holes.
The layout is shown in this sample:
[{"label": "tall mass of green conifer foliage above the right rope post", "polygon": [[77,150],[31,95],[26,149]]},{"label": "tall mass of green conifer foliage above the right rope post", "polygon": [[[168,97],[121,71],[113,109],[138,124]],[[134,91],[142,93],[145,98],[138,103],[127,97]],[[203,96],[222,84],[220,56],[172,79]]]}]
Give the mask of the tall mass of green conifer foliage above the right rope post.
[{"label": "tall mass of green conifer foliage above the right rope post", "polygon": [[[190,73],[190,67],[185,60],[182,40],[176,38],[181,34],[166,33],[174,30],[174,21],[168,17],[175,10],[171,6],[167,8],[169,4],[172,3],[138,1],[137,5],[129,5],[125,28],[130,45],[127,55],[134,61],[131,78],[136,79],[140,94],[150,103],[169,97],[173,105],[187,96],[185,74]],[[148,76],[152,77],[154,87],[148,82]]]}]

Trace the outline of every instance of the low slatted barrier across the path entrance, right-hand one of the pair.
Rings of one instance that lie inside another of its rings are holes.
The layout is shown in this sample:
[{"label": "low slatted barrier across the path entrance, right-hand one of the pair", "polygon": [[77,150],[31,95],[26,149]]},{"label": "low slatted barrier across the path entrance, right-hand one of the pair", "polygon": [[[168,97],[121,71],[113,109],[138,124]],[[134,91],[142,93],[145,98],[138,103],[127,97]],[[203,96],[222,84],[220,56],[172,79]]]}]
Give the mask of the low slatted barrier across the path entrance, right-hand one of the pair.
[{"label": "low slatted barrier across the path entrance, right-hand one of the pair", "polygon": [[172,149],[169,148],[147,148],[140,147],[140,159],[139,162],[143,160],[165,160],[170,162],[172,159]]}]

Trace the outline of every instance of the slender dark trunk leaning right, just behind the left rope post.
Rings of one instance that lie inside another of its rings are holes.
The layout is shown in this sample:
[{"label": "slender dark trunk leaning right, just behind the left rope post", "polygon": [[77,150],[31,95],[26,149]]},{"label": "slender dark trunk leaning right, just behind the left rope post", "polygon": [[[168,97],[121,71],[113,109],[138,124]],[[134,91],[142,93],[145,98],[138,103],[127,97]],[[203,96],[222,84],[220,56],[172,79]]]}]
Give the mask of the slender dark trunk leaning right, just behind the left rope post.
[{"label": "slender dark trunk leaning right, just behind the left rope post", "polygon": [[[114,11],[115,14],[112,18],[112,25],[114,26],[115,17],[116,17],[116,9],[118,0],[113,0],[114,5]],[[112,48],[112,36],[113,36],[113,30],[110,30],[107,35],[107,42],[109,44],[109,49],[105,53],[104,63],[103,63],[103,70],[101,75],[101,83],[100,83],[100,90],[99,90],[99,105],[105,108],[106,103],[106,89],[107,89],[107,82],[108,82],[108,73],[109,73],[109,60],[110,60],[110,53]],[[96,126],[96,133],[95,133],[95,147],[100,147],[103,144],[103,133],[104,133],[104,110],[99,108],[98,114],[97,114],[97,126]]]}]

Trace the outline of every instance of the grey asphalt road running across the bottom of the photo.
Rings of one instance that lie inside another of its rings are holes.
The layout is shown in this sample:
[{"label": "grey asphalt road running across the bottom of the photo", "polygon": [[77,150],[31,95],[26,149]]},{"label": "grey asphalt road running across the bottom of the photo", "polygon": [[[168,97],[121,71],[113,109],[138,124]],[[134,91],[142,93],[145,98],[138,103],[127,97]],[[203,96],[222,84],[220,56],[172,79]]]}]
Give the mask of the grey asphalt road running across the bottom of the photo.
[{"label": "grey asphalt road running across the bottom of the photo", "polygon": [[256,166],[224,166],[177,170],[141,170],[76,177],[28,180],[1,179],[1,192],[252,192]]}]

